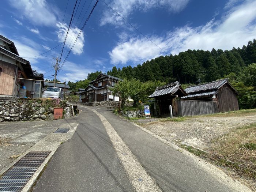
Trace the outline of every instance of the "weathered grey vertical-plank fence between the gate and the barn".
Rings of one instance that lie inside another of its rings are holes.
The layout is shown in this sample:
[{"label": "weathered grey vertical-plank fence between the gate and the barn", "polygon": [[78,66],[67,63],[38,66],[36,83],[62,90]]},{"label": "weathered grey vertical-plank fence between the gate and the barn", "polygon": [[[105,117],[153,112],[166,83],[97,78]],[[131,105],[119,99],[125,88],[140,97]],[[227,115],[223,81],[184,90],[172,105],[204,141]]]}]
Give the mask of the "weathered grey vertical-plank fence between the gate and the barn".
[{"label": "weathered grey vertical-plank fence between the gate and the barn", "polygon": [[175,112],[177,116],[195,116],[219,113],[217,101],[175,101]]}]

